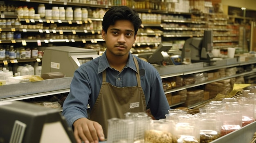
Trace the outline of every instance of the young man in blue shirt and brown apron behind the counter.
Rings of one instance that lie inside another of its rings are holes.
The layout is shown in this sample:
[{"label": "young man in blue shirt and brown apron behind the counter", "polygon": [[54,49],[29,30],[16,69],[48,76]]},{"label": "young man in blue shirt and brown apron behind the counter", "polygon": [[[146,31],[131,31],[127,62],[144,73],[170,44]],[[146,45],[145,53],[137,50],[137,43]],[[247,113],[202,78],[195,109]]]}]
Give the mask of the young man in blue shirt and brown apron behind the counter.
[{"label": "young man in blue shirt and brown apron behind the counter", "polygon": [[146,112],[150,107],[155,119],[168,113],[159,73],[129,52],[140,25],[138,13],[126,6],[112,7],[104,15],[101,35],[106,51],[75,71],[63,105],[77,142],[104,140],[108,119],[124,118],[126,112]]}]

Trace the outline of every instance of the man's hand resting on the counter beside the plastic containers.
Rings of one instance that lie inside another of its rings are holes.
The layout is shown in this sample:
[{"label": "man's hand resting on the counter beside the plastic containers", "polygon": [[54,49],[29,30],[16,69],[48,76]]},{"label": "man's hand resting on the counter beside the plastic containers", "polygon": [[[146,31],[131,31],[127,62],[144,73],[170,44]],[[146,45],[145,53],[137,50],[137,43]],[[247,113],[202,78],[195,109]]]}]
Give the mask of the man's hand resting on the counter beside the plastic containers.
[{"label": "man's hand resting on the counter beside the plastic containers", "polygon": [[77,143],[81,143],[81,140],[85,143],[99,143],[99,140],[105,139],[101,125],[95,121],[80,118],[73,123],[73,126]]}]

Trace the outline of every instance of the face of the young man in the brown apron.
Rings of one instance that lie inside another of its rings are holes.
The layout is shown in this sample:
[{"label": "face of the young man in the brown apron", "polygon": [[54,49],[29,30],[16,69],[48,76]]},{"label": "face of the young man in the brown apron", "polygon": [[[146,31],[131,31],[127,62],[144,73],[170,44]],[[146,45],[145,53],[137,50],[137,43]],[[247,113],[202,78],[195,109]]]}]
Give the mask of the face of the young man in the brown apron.
[{"label": "face of the young man in the brown apron", "polygon": [[102,30],[102,39],[106,41],[107,51],[111,55],[124,56],[136,40],[134,26],[129,20],[117,20],[108,27],[107,33]]}]

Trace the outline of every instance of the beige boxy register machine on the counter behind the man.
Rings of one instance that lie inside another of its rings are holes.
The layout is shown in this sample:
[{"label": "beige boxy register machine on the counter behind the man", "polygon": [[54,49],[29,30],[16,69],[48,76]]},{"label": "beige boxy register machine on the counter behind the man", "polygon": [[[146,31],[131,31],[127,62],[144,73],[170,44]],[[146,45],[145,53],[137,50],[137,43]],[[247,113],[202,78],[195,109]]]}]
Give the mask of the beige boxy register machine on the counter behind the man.
[{"label": "beige boxy register machine on the counter behind the man", "polygon": [[99,57],[97,51],[71,46],[53,46],[45,49],[42,73],[60,72],[73,77],[74,71],[83,63]]}]

